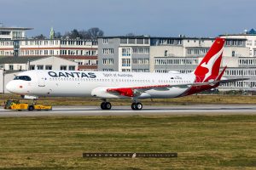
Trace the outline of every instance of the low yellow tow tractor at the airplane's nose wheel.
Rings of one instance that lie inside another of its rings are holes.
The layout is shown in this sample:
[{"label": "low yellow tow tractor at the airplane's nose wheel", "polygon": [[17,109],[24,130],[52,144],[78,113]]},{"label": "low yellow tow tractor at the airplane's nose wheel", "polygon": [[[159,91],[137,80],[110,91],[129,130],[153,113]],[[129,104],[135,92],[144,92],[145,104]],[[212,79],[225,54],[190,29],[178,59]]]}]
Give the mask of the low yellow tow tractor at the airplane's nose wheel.
[{"label": "low yellow tow tractor at the airplane's nose wheel", "polygon": [[4,109],[7,110],[17,110],[17,111],[50,111],[52,110],[52,106],[50,105],[36,105],[33,103],[29,105],[27,103],[20,103],[19,99],[9,99],[5,102]]}]

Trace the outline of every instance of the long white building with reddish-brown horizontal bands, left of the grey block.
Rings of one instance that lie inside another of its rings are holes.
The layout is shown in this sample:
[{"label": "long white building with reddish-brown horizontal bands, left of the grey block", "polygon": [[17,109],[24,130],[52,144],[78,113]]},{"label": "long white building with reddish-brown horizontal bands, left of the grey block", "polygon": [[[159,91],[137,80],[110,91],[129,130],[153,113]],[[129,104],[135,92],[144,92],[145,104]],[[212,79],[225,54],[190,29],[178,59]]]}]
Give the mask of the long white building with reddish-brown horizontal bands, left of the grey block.
[{"label": "long white building with reddish-brown horizontal bands, left of the grey block", "polygon": [[97,70],[96,40],[16,39],[0,40],[0,56],[55,56],[75,61],[79,70]]}]

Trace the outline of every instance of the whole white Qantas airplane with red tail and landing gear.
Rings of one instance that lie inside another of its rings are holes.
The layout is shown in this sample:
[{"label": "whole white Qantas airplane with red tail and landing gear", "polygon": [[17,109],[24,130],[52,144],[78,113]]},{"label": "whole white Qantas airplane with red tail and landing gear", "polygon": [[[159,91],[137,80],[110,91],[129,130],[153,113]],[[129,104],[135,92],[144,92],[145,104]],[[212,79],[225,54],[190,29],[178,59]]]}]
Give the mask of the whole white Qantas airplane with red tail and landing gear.
[{"label": "whole white Qantas airplane with red tail and landing gear", "polygon": [[224,38],[217,37],[195,71],[145,73],[116,71],[24,71],[10,81],[9,92],[24,99],[39,97],[96,97],[102,110],[112,108],[108,99],[131,99],[132,110],[142,110],[140,99],[169,99],[196,94],[219,85],[247,80],[226,79],[219,72]]}]

